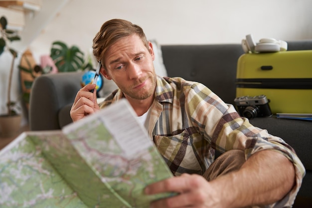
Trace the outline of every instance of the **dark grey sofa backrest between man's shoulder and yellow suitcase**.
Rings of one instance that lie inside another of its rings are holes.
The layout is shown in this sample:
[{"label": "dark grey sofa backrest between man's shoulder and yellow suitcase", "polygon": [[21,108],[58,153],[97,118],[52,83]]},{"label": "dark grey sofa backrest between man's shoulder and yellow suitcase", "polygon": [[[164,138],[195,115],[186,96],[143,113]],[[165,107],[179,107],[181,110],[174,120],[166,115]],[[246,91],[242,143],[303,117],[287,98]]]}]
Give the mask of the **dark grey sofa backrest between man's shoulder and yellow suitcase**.
[{"label": "dark grey sofa backrest between man's shoulder and yellow suitcase", "polygon": [[240,44],[162,45],[161,50],[169,77],[200,82],[234,103],[237,60],[244,54]]}]

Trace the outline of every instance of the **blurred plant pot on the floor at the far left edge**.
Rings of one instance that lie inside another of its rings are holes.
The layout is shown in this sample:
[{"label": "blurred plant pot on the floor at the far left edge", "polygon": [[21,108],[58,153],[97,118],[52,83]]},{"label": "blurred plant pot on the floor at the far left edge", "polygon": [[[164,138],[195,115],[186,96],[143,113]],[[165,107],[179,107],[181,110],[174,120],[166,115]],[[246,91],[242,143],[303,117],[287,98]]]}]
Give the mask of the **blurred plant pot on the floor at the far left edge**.
[{"label": "blurred plant pot on the floor at the far left edge", "polygon": [[17,136],[20,129],[21,115],[0,115],[1,138]]}]

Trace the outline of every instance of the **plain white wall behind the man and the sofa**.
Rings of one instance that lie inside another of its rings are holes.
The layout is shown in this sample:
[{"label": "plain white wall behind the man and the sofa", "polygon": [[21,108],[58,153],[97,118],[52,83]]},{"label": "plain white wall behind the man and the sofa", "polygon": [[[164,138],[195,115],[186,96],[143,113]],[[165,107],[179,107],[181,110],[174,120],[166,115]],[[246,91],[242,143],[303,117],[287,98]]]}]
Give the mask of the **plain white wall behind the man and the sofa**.
[{"label": "plain white wall behind the man and the sofa", "polygon": [[[256,41],[312,39],[311,11],[312,0],[68,0],[29,48],[38,58],[50,53],[53,41],[62,40],[88,53],[94,35],[111,18],[142,26],[147,37],[160,44],[240,43],[249,33]],[[0,114],[7,85],[3,59]],[[18,82],[14,83],[17,94]]]}]

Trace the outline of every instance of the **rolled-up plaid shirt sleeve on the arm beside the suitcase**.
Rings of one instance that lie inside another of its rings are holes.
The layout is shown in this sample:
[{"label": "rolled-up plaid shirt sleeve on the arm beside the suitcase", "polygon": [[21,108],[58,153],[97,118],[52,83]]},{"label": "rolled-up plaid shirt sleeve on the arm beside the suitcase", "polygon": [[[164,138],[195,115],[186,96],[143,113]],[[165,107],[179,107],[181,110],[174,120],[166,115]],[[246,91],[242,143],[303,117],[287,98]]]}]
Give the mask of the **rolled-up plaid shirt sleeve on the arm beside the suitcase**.
[{"label": "rolled-up plaid shirt sleeve on the arm beside the suitcase", "polygon": [[198,122],[199,129],[205,139],[211,142],[212,148],[220,152],[240,149],[245,152],[246,159],[256,152],[272,150],[294,164],[296,185],[282,201],[272,205],[292,207],[306,173],[295,150],[282,138],[270,135],[267,130],[257,128],[248,119],[240,117],[233,105],[224,103],[204,85],[191,86],[187,100],[192,119]]}]

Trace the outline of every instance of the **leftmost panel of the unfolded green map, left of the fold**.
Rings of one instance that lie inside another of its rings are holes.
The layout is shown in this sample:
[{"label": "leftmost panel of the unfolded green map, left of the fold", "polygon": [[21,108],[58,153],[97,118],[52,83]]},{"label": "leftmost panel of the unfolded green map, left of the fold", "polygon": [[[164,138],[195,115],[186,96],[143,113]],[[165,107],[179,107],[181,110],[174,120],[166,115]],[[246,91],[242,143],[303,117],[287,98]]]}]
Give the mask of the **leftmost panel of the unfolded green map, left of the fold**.
[{"label": "leftmost panel of the unfolded green map, left of the fold", "polygon": [[0,152],[1,208],[87,208],[23,133]]}]

